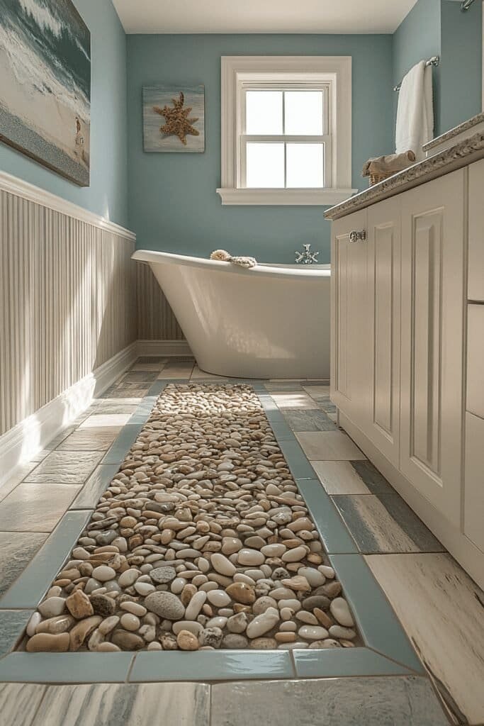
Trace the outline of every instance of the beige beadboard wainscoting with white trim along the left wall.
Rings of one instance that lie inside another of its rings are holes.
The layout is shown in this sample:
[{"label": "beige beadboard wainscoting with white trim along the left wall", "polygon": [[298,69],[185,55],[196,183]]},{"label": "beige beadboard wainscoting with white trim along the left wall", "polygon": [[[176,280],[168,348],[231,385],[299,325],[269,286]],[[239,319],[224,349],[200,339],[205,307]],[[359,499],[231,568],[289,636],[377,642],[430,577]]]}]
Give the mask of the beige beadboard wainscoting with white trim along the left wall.
[{"label": "beige beadboard wainscoting with white trim along the left wall", "polygon": [[0,481],[136,359],[135,241],[0,173]]}]

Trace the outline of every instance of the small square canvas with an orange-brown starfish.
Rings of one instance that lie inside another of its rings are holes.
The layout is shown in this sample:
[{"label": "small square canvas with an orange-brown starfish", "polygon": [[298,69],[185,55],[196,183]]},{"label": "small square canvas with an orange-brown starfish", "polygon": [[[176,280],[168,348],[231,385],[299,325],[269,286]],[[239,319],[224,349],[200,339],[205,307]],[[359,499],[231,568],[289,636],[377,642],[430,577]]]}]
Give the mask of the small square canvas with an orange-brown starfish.
[{"label": "small square canvas with an orange-brown starfish", "polygon": [[205,151],[205,87],[144,86],[147,152]]}]

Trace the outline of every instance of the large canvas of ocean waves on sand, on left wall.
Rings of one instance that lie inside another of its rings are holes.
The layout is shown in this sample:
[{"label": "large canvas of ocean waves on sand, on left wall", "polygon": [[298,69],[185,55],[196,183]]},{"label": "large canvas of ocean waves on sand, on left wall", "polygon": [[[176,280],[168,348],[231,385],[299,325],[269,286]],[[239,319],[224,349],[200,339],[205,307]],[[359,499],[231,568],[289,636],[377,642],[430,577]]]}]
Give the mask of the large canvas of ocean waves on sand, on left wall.
[{"label": "large canvas of ocean waves on sand, on left wall", "polygon": [[0,140],[89,186],[91,36],[71,0],[0,0]]}]

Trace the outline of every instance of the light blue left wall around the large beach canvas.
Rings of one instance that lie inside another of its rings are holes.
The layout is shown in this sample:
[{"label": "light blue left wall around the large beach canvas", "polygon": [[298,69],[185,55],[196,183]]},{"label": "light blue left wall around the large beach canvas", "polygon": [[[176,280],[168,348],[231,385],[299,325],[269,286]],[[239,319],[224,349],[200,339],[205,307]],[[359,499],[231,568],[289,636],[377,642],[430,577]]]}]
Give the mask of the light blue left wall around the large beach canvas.
[{"label": "light blue left wall around the large beach canvas", "polygon": [[0,143],[0,169],[128,224],[126,35],[111,0],[74,0],[91,30],[91,186],[76,187]]}]

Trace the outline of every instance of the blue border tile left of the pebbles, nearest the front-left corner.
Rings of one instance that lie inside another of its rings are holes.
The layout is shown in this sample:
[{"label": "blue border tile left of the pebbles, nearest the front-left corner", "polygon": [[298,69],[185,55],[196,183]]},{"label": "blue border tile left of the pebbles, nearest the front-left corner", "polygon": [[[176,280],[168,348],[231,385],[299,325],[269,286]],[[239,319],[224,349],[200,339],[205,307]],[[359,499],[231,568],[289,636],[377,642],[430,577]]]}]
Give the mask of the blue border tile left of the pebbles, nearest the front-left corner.
[{"label": "blue border tile left of the pebbles, nearest the front-left corner", "polygon": [[[91,513],[91,510],[70,510],[65,513],[33,560],[1,597],[0,608],[27,610],[37,607],[86,526]],[[33,653],[26,655],[32,656]]]}]

